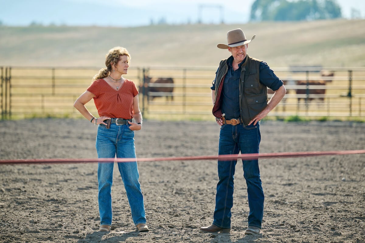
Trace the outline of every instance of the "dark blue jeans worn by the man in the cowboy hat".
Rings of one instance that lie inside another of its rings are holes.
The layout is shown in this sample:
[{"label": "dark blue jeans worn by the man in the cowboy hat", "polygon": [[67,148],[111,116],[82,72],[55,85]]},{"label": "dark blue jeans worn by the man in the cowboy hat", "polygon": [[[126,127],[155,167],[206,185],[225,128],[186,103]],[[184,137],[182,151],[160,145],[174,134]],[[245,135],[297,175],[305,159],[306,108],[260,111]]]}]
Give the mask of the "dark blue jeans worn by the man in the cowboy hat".
[{"label": "dark blue jeans worn by the man in the cowboy hat", "polygon": [[[219,155],[258,153],[261,141],[260,126],[223,124],[219,135]],[[217,194],[215,198],[214,221],[218,227],[231,227],[233,206],[233,180],[237,160],[219,161]],[[247,184],[249,202],[248,226],[261,228],[264,215],[264,191],[262,190],[258,160],[243,160],[243,176]]]}]

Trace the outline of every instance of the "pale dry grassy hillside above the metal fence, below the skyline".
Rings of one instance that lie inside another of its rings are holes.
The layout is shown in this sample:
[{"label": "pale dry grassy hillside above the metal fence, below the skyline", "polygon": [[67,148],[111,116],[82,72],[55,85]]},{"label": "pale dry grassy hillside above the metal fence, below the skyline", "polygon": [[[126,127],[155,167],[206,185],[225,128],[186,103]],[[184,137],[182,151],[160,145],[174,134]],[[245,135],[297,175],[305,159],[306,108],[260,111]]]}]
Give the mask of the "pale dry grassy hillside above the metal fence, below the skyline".
[{"label": "pale dry grassy hillside above the metal fence, below the skyline", "polygon": [[248,54],[271,67],[365,66],[365,20],[134,28],[0,26],[0,66],[103,67],[107,51],[123,46],[133,66],[217,66],[230,55],[216,47],[228,30],[256,34]]}]

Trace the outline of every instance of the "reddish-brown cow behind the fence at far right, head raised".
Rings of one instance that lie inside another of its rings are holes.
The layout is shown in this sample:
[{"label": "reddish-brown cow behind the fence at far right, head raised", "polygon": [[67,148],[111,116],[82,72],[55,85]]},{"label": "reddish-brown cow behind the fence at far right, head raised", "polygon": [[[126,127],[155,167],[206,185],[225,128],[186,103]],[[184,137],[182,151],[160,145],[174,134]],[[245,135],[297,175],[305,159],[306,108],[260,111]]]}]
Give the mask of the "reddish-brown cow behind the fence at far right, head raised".
[{"label": "reddish-brown cow behind the fence at far right, head raised", "polygon": [[[318,85],[318,86],[322,86],[321,89],[308,89],[308,94],[319,94],[322,95],[322,97],[318,97],[317,99],[319,101],[324,101],[324,94],[326,94],[326,83],[330,83],[332,82],[332,78],[334,76],[334,72],[328,72],[328,71],[321,71],[320,73],[321,77],[323,77],[322,80],[299,80],[297,81],[297,85],[303,85],[306,86],[308,85]],[[307,94],[307,89],[303,87],[303,89],[297,89],[295,90],[296,94],[299,95],[303,95],[303,94]],[[300,102],[300,99],[306,99],[304,97],[297,97],[298,99],[298,105]],[[316,99],[316,97],[308,97],[308,102],[312,101]]]}]

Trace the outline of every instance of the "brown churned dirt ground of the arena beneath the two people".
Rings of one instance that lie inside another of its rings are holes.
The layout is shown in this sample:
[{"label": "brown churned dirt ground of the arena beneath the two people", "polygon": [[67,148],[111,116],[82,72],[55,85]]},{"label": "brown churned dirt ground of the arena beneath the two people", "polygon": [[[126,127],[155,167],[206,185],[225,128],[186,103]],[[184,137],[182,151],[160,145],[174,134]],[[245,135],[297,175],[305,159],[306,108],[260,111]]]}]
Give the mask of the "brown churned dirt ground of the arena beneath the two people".
[{"label": "brown churned dirt ground of the arena beneath the two people", "polygon": [[[261,123],[260,152],[364,149],[365,124]],[[96,127],[86,119],[0,121],[0,159],[96,158]],[[216,155],[214,122],[145,120],[137,157]],[[232,231],[203,234],[212,223],[215,160],[139,162],[149,232],[135,231],[114,170],[113,222],[99,233],[97,163],[0,164],[0,242],[365,242],[365,154],[260,160],[265,192],[262,232],[245,236],[246,183],[235,175]]]}]

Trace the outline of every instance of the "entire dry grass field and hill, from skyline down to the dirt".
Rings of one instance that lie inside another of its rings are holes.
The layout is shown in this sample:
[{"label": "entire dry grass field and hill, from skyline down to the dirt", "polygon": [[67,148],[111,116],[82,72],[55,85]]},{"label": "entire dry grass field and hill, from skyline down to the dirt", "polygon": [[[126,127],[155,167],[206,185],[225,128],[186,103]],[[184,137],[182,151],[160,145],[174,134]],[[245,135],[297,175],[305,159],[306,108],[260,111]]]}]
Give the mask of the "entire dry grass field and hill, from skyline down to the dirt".
[{"label": "entire dry grass field and hill, from skyline down to the dirt", "polygon": [[[146,119],[212,119],[211,82],[219,61],[230,55],[216,45],[226,43],[228,30],[242,28],[247,38],[257,35],[248,54],[288,81],[287,95],[268,119],[364,121],[364,26],[364,19],[137,27],[0,25],[2,118],[80,117],[73,102],[105,66],[107,51],[123,46],[132,56],[126,78],[138,87],[145,75],[174,81],[172,94],[150,94],[157,95],[152,100],[140,90]],[[323,70],[334,73],[324,87],[297,86],[299,80],[322,80]],[[296,94],[299,88],[308,94]],[[311,89],[326,91],[312,95]],[[298,97],[304,99],[298,102]],[[92,101],[87,107],[96,113]]]}]

